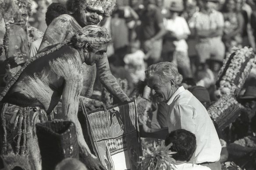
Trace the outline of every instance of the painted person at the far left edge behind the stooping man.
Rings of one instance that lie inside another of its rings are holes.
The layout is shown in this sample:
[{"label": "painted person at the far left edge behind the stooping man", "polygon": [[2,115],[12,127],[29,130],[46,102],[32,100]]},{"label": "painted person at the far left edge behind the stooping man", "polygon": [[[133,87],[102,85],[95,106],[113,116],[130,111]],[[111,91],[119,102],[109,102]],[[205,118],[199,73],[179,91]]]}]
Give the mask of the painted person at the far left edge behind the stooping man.
[{"label": "painted person at the far left edge behind the stooping man", "polygon": [[[11,4],[9,4],[11,3]],[[10,11],[7,11],[9,4]],[[21,66],[29,59],[28,39],[25,31],[13,24],[13,15],[18,12],[12,1],[1,3],[0,14],[0,88],[21,69]],[[1,90],[0,90],[1,91]]]}]

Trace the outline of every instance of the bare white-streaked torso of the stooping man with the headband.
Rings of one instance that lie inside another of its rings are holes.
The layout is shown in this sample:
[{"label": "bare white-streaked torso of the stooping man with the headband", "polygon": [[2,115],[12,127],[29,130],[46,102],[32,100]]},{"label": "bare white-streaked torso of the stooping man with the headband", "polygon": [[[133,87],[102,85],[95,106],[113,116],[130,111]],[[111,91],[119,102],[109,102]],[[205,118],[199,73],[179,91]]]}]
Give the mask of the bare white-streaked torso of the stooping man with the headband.
[{"label": "bare white-streaked torso of the stooping man with the headband", "polygon": [[68,45],[36,59],[21,73],[4,102],[22,107],[38,106],[50,113],[60,100],[65,82],[76,81],[81,84],[78,90],[82,90],[81,66],[78,50]]}]

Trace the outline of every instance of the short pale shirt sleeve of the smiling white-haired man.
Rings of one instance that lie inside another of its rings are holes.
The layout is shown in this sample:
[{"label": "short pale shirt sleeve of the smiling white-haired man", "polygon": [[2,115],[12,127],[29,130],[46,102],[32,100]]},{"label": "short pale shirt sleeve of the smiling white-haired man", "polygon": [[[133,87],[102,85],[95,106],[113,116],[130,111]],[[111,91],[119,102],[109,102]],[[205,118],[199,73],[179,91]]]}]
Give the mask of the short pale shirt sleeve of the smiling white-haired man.
[{"label": "short pale shirt sleeve of the smiling white-haired man", "polygon": [[194,114],[195,109],[186,104],[178,104],[174,106],[174,115],[176,118],[180,118],[180,126],[182,129],[185,129],[189,132],[195,134],[195,122],[194,122]]}]

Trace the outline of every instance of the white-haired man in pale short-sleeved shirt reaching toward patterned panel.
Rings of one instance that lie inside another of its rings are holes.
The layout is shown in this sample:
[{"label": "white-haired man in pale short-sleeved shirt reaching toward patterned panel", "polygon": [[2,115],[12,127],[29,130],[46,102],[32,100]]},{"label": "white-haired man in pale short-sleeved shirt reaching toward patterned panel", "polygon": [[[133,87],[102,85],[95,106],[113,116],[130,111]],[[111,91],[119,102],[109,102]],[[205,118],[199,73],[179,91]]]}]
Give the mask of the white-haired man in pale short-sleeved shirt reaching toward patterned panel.
[{"label": "white-haired man in pale short-sleeved shirt reaching toward patterned panel", "polygon": [[221,170],[221,145],[213,122],[203,104],[183,86],[183,77],[171,62],[160,62],[145,71],[148,87],[157,101],[166,102],[168,128],[153,129],[142,123],[142,137],[165,139],[168,133],[185,129],[196,135],[195,157],[189,162],[201,164],[211,170]]}]

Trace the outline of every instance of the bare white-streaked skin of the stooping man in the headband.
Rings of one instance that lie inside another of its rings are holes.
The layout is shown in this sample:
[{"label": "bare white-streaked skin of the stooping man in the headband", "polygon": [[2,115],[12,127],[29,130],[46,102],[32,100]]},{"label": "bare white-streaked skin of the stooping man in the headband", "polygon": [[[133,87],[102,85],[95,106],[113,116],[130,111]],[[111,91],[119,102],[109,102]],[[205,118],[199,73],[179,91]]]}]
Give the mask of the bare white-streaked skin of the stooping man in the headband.
[{"label": "bare white-streaked skin of the stooping man in the headband", "polygon": [[[84,163],[88,163],[89,167],[93,167],[92,169],[103,167],[88,153],[89,148],[78,121],[79,94],[83,86],[82,63],[92,65],[103,58],[104,52],[107,52],[107,44],[101,45],[97,52],[84,52],[82,49],[77,50],[66,45],[27,66],[1,101],[21,107],[39,107],[49,115],[62,96],[61,118],[75,123],[81,156]],[[89,98],[83,100],[88,104],[87,107],[95,103]],[[104,104],[100,102],[96,106],[104,107]],[[32,140],[36,140],[36,136],[32,136]],[[30,149],[33,151],[33,148]],[[32,152],[32,157],[39,160],[40,155],[36,154],[38,153]],[[96,165],[92,166],[92,162]],[[36,165],[36,170],[39,169],[40,165]]]}]

